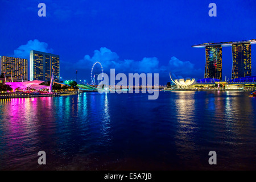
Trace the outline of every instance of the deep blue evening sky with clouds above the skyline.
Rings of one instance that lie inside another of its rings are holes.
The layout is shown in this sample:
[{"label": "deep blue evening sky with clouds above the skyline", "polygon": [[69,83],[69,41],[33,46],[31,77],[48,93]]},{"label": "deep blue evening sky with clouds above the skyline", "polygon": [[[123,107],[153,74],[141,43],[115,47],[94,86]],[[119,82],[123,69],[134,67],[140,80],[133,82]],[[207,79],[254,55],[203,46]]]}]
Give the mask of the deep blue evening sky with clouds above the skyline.
[{"label": "deep blue evening sky with clouds above the skyline", "polygon": [[[38,4],[46,4],[46,17]],[[209,3],[217,17],[210,17]],[[0,55],[29,59],[30,49],[60,55],[64,79],[90,80],[98,60],[108,73],[159,73],[204,77],[205,52],[194,44],[256,39],[256,2],[237,1],[1,1]],[[256,75],[256,45],[252,72]],[[95,72],[98,72],[98,68]],[[222,74],[230,78],[232,49],[222,49]]]}]

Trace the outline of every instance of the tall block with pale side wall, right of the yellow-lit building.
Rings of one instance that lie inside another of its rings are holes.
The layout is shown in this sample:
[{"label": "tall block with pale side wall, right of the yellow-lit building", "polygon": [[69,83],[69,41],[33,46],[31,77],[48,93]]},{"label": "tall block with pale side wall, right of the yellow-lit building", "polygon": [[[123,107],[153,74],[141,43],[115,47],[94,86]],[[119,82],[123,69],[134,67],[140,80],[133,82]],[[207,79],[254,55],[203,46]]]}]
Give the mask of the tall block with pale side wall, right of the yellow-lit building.
[{"label": "tall block with pale side wall, right of the yellow-lit building", "polygon": [[32,80],[60,80],[60,56],[52,53],[30,51],[30,81]]}]

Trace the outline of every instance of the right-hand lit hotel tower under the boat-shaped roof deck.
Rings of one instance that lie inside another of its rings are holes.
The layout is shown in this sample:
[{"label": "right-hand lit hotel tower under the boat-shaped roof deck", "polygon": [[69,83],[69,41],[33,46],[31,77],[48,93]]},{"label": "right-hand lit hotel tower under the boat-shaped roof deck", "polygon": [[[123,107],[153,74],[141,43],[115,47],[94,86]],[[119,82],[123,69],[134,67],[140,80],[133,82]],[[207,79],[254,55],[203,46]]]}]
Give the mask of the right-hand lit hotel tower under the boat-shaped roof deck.
[{"label": "right-hand lit hotel tower under the boat-shaped roof deck", "polygon": [[233,44],[232,57],[232,79],[251,76],[251,44]]}]

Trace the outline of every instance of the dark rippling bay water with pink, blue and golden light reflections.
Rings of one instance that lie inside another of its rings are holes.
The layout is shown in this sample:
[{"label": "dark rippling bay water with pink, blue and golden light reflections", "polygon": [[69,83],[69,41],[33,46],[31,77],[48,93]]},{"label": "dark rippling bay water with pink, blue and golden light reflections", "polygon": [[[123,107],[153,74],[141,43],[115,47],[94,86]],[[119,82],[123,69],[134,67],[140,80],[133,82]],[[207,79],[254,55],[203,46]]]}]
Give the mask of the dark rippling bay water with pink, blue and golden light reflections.
[{"label": "dark rippling bay water with pink, blue and golden light reflections", "polygon": [[1,100],[0,169],[256,169],[255,111],[248,92]]}]

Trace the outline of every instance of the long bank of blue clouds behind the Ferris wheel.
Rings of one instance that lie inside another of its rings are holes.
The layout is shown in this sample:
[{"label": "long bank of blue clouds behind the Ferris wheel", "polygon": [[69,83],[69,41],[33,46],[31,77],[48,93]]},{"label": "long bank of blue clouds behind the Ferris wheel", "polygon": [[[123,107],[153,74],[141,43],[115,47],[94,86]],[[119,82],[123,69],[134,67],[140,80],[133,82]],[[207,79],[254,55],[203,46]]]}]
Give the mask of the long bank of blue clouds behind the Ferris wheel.
[{"label": "long bank of blue clouds behind the Ferris wheel", "polygon": [[184,78],[200,76],[203,73],[201,69],[196,69],[195,64],[192,64],[190,61],[181,61],[175,56],[171,57],[168,65],[160,65],[157,57],[144,57],[141,61],[120,60],[117,53],[112,52],[106,47],[95,50],[92,57],[85,55],[83,59],[76,63],[66,63],[66,68],[78,68],[86,72],[90,71],[93,63],[96,61],[100,61],[106,73],[111,68],[114,68],[116,73],[159,73],[159,77],[161,75],[168,77],[170,71]]}]

